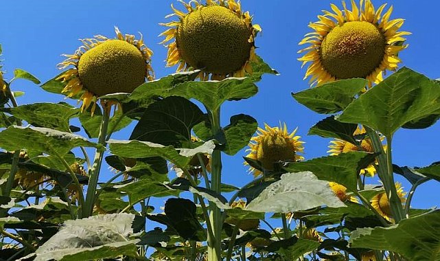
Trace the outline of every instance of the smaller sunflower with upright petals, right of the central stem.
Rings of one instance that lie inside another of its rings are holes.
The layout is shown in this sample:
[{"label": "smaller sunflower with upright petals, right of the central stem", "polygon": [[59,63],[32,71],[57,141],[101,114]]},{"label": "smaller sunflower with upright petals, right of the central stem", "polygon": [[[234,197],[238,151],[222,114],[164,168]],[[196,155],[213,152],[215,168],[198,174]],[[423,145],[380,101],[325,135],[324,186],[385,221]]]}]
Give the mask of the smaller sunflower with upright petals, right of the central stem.
[{"label": "smaller sunflower with upright petals, right of the central stem", "polygon": [[[287,126],[280,124],[279,127],[270,127],[264,124],[264,129],[258,128],[257,137],[253,137],[249,142],[250,151],[246,157],[259,161],[264,170],[274,170],[274,163],[278,161],[300,161],[304,157],[298,155],[303,152],[303,141],[299,140],[299,136],[295,136],[297,129],[292,133],[288,133]],[[246,164],[246,163],[245,163]],[[262,174],[261,171],[251,167],[254,177]]]}]

